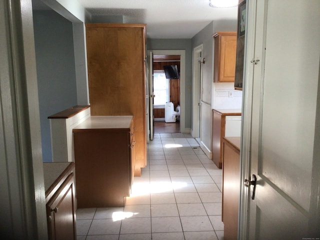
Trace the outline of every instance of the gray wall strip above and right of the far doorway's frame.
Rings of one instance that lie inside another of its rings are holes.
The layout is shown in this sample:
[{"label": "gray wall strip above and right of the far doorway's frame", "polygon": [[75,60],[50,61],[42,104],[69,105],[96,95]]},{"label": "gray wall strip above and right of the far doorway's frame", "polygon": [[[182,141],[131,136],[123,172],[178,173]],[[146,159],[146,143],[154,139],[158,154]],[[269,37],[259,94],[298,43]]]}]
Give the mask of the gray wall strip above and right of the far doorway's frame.
[{"label": "gray wall strip above and right of the far doorway's frame", "polygon": [[185,50],[185,128],[191,127],[191,39],[147,39],[147,49]]}]

